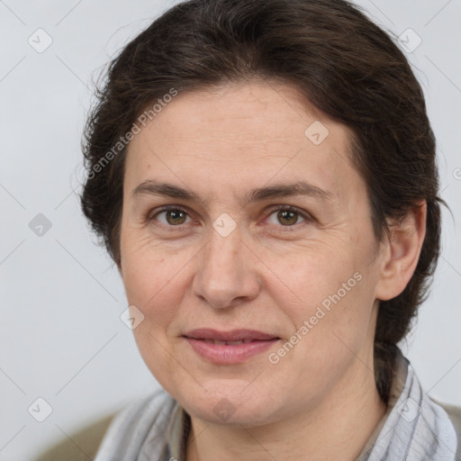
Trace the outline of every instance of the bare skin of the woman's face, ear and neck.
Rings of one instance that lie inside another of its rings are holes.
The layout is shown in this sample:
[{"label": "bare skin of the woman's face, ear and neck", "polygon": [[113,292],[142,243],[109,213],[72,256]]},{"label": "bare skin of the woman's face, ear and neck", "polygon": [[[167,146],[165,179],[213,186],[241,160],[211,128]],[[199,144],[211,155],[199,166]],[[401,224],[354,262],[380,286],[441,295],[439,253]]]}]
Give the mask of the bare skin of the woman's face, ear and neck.
[{"label": "bare skin of the woman's face, ear and neck", "polygon": [[[330,131],[320,145],[304,135],[316,121]],[[131,141],[119,268],[129,303],[145,316],[134,330],[140,354],[191,416],[187,461],[353,460],[384,415],[373,374],[377,308],[411,278],[426,208],[420,203],[393,223],[391,240],[376,241],[348,141],[344,125],[293,88],[258,81],[177,95]],[[147,180],[199,200],[132,194]],[[243,203],[253,188],[298,180],[330,198]],[[185,209],[183,219],[159,210],[167,204]],[[287,224],[279,205],[303,214]],[[212,225],[222,213],[237,224],[226,237]],[[339,303],[270,363],[357,273]],[[213,365],[182,337],[196,328],[280,340],[240,364]],[[227,420],[213,411],[222,399],[234,411]]]}]

